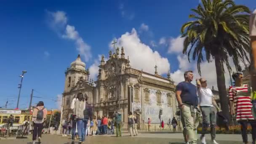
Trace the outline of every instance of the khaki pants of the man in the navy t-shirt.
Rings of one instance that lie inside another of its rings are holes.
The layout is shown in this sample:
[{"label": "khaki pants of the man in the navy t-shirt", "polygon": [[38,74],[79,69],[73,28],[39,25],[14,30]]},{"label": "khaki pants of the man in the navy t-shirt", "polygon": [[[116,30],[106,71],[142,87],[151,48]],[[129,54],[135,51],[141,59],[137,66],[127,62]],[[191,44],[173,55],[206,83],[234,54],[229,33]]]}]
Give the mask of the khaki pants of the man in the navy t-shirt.
[{"label": "khaki pants of the man in the navy t-shirt", "polygon": [[197,143],[197,129],[196,129],[196,123],[195,123],[196,109],[194,108],[190,109],[188,105],[184,104],[184,107],[181,109],[181,114],[187,130],[189,142],[190,144],[196,144]]}]

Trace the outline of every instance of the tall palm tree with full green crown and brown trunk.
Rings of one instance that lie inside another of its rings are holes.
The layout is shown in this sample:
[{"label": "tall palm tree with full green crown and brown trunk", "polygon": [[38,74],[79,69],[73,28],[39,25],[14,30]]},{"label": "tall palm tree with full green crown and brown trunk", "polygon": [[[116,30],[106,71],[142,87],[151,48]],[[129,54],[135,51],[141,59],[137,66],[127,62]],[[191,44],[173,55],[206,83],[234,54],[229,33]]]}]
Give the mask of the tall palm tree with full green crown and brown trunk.
[{"label": "tall palm tree with full green crown and brown trunk", "polygon": [[224,115],[229,118],[229,106],[225,85],[224,67],[232,71],[229,60],[233,60],[235,68],[240,69],[242,62],[250,61],[248,52],[249,8],[235,5],[233,0],[201,0],[189,21],[181,27],[181,37],[185,37],[183,53],[197,61],[197,71],[201,75],[200,64],[214,59],[217,85]]}]

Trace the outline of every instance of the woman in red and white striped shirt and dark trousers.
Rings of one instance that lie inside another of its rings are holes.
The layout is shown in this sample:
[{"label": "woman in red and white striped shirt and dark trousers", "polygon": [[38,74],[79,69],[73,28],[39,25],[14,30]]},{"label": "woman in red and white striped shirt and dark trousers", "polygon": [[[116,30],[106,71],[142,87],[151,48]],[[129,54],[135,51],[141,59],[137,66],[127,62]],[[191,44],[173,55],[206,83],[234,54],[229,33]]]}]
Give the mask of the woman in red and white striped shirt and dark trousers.
[{"label": "woman in red and white striped shirt and dark trousers", "polygon": [[[247,85],[243,85],[243,73],[236,72],[232,75],[235,80],[235,86],[229,88],[229,101],[230,101],[230,112],[231,115],[235,113],[236,120],[241,125],[243,142],[248,144],[248,137],[246,134],[248,123],[251,124],[252,127],[252,138],[253,144],[255,144],[256,139],[256,121],[253,118],[251,112],[251,97],[248,93]],[[233,104],[235,107],[235,112],[233,112]]]}]

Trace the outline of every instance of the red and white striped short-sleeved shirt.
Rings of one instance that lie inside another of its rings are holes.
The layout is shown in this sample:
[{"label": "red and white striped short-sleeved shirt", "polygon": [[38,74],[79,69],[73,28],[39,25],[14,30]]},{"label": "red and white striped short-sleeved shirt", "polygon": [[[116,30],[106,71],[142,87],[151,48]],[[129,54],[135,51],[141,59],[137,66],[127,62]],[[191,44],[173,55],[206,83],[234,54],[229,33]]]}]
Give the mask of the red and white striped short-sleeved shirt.
[{"label": "red and white striped short-sleeved shirt", "polygon": [[[247,85],[243,85],[240,87],[230,87],[229,88],[229,101],[233,101],[235,105],[236,111],[236,120],[254,120],[251,108],[251,97],[243,96],[243,92],[247,92]],[[242,94],[240,94],[242,93]]]}]

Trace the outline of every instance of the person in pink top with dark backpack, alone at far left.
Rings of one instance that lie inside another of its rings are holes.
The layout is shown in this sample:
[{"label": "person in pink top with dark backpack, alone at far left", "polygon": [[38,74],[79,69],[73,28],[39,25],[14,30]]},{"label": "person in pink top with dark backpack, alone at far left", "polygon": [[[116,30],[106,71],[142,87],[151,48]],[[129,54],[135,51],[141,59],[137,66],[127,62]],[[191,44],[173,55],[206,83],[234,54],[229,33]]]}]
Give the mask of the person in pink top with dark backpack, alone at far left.
[{"label": "person in pink top with dark backpack, alone at far left", "polygon": [[38,143],[41,143],[41,135],[43,129],[43,123],[46,120],[47,109],[44,108],[43,101],[39,101],[37,107],[33,110],[32,122],[34,123],[34,131],[33,131],[33,144],[35,144],[35,140],[38,136]]}]

